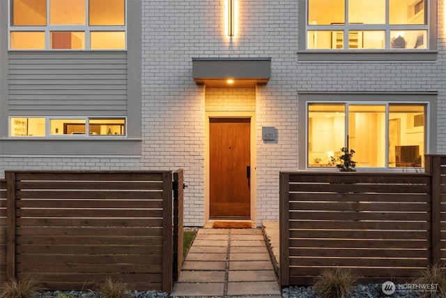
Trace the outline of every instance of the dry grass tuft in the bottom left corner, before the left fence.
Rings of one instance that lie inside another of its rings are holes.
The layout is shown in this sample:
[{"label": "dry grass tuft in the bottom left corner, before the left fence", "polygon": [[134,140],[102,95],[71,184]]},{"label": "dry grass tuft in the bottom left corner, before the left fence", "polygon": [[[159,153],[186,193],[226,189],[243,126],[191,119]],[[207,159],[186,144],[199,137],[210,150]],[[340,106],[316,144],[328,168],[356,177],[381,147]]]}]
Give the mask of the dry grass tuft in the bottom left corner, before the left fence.
[{"label": "dry grass tuft in the bottom left corner, before the left fence", "polygon": [[22,278],[20,281],[10,280],[1,284],[0,298],[29,298],[37,292],[44,290],[39,283],[31,278]]}]

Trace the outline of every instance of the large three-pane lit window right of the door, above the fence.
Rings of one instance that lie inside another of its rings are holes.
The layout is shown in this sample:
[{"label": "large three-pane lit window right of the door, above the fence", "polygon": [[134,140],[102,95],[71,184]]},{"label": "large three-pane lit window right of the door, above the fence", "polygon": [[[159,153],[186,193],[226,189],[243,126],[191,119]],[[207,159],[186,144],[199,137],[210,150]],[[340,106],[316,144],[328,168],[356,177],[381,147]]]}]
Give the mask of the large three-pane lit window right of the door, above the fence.
[{"label": "large three-pane lit window right of the door, above the fence", "polygon": [[342,147],[356,167],[424,166],[426,105],[413,103],[309,103],[308,167],[329,167]]}]

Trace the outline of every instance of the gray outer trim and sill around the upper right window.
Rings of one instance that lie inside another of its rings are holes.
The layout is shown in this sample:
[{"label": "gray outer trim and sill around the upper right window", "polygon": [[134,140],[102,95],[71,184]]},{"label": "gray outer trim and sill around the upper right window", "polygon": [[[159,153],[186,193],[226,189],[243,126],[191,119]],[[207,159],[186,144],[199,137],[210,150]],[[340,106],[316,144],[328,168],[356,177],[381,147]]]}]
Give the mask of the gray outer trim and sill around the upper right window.
[{"label": "gray outer trim and sill around the upper right window", "polygon": [[[298,0],[298,54],[300,61],[436,61],[437,59],[437,19],[438,19],[438,0],[429,0],[427,4],[427,49],[307,49],[307,21],[308,21],[308,2],[307,0]],[[357,24],[351,24],[355,27]],[[364,24],[364,27],[374,28],[374,24]],[[406,25],[388,25],[404,28]],[[323,27],[323,26],[321,26]],[[329,25],[334,29],[334,25]],[[344,38],[344,43],[347,38]]]}]

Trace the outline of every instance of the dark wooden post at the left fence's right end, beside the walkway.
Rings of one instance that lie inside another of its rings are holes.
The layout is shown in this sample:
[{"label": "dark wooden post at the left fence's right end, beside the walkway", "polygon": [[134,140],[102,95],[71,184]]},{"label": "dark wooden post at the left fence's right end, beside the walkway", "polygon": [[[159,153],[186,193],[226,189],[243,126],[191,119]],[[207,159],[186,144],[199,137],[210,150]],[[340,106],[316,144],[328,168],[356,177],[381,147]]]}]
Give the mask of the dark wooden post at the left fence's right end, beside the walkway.
[{"label": "dark wooden post at the left fence's right end, beside the walkway", "polygon": [[162,290],[172,292],[173,240],[172,240],[172,172],[162,173]]}]

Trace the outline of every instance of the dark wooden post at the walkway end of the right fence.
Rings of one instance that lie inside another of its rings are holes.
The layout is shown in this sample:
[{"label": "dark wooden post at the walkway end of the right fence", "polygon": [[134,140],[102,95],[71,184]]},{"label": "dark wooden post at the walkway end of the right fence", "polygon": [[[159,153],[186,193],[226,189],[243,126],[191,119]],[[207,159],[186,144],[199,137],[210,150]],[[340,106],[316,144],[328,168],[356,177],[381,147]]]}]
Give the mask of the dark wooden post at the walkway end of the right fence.
[{"label": "dark wooden post at the walkway end of the right fence", "polygon": [[280,173],[279,177],[279,266],[280,266],[280,285],[287,286],[290,283],[289,267],[289,192],[290,192],[290,174]]}]

